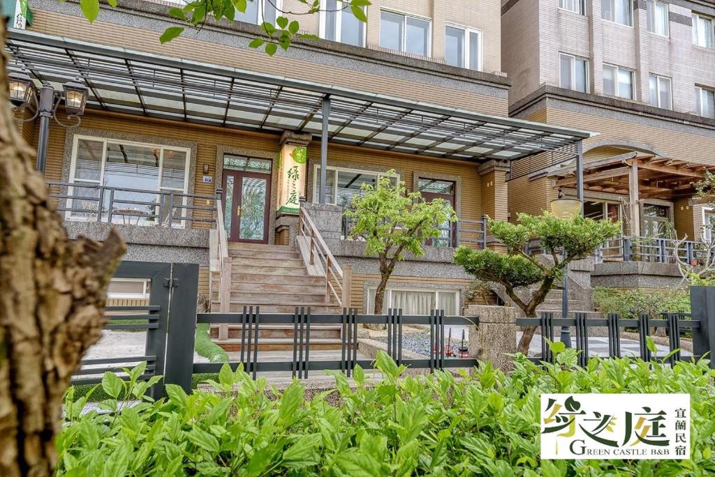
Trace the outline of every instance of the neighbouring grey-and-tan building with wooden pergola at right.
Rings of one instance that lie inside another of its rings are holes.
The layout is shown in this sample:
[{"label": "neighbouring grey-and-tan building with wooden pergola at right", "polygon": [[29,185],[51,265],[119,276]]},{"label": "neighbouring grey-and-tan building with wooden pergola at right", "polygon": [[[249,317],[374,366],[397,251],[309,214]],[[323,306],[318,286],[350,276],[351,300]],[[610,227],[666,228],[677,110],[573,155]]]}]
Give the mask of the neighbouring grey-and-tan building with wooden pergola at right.
[{"label": "neighbouring grey-and-tan building with wooden pergola at right", "polygon": [[[586,215],[697,239],[711,221],[694,184],[715,166],[715,3],[505,0],[501,14],[511,116],[598,133],[583,143]],[[573,164],[552,162],[512,177],[512,213],[570,193]]]}]

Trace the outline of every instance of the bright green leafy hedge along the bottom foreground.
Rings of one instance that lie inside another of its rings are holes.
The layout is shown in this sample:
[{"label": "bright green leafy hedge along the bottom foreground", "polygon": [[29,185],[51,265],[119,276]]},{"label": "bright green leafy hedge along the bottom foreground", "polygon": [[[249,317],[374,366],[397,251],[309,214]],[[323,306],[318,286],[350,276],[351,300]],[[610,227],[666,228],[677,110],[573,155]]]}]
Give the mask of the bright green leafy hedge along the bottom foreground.
[{"label": "bright green leafy hedge along the bottom foreground", "polygon": [[[558,351],[558,350],[555,350]],[[380,353],[383,381],[358,387],[335,375],[342,400],[330,391],[303,398],[295,381],[267,398],[264,379],[224,366],[220,393],[187,395],[167,386],[168,398],[119,408],[117,398],[143,391],[107,375],[111,399],[79,416],[82,400],[66,396],[66,421],[57,442],[59,473],[67,476],[707,476],[715,473],[715,373],[705,360],[673,368],[642,361],[591,360],[576,352],[540,368],[523,356],[508,376],[483,364],[470,376],[405,377]],[[692,403],[689,461],[543,461],[538,458],[541,393],[686,392]],[[114,412],[116,411],[116,412]]]}]

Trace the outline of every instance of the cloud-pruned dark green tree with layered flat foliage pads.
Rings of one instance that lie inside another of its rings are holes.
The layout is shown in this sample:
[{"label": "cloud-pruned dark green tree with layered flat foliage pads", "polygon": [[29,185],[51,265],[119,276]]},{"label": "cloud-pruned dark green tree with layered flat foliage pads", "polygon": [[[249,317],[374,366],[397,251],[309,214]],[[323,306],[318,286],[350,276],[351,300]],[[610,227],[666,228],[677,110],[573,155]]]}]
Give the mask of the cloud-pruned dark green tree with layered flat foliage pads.
[{"label": "cloud-pruned dark green tree with layered flat foliage pads", "polygon": [[[504,243],[507,253],[460,247],[455,252],[454,261],[479,280],[500,283],[527,317],[536,316],[536,307],[546,300],[548,292],[563,278],[568,263],[590,256],[603,242],[621,233],[620,225],[611,221],[583,217],[558,219],[549,212],[541,216],[518,214],[518,224],[490,220],[489,229],[496,239]],[[541,241],[541,248],[551,255],[553,263],[524,252],[526,244],[536,239]],[[538,285],[538,288],[528,301],[517,295],[517,288],[533,285]],[[528,326],[524,330],[518,351],[527,353],[534,331],[536,326]]]}]

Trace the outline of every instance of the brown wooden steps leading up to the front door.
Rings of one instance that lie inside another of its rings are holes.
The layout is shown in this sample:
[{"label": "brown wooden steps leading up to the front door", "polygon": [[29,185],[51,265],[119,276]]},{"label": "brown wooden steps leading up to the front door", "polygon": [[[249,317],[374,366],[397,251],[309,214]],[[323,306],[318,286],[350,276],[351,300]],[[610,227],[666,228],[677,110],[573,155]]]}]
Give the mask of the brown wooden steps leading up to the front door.
[{"label": "brown wooden steps leading up to the front door", "polygon": [[[293,313],[310,306],[312,313],[340,313],[341,306],[327,290],[325,276],[311,275],[295,246],[260,243],[227,243],[230,260],[222,271],[212,271],[211,311],[241,312],[260,307],[261,313]],[[222,273],[230,271],[230,286]],[[222,300],[222,292],[228,298]],[[311,349],[339,349],[340,325],[310,327]],[[226,351],[240,351],[240,325],[217,325],[210,330],[215,342]],[[260,325],[259,351],[292,350],[292,325]]]}]

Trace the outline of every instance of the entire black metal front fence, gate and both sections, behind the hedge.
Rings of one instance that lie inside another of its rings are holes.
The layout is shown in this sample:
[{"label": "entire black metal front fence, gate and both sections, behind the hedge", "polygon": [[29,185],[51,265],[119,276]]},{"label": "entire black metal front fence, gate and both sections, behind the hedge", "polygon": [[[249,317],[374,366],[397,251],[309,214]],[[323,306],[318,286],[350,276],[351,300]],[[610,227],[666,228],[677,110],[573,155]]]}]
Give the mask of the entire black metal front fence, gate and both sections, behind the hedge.
[{"label": "entire black metal front fence, gate and both sections, behind the hedge", "polygon": [[[430,316],[403,315],[400,310],[390,310],[386,315],[361,315],[355,308],[342,313],[312,313],[310,308],[296,308],[294,313],[262,313],[259,307],[244,308],[240,313],[197,313],[199,267],[194,263],[147,263],[124,261],[114,275],[116,278],[144,278],[149,281],[149,300],[145,306],[112,306],[107,308],[109,331],[146,331],[146,346],[132,356],[111,356],[86,359],[73,379],[74,384],[92,384],[101,381],[105,371],[121,373],[122,368],[147,361],[142,379],[164,376],[165,383],[175,383],[189,391],[194,373],[217,373],[222,363],[194,363],[194,338],[197,323],[229,323],[240,326],[241,346],[237,361],[230,362],[235,369],[240,364],[255,378],[257,373],[287,371],[296,378],[308,378],[314,371],[333,370],[351,376],[355,366],[372,368],[373,360],[358,356],[358,324],[384,324],[387,326],[386,351],[397,363],[410,368],[433,371],[444,368],[465,368],[477,364],[473,358],[448,356],[445,346],[445,326],[478,326],[478,318],[445,316],[435,310]],[[574,318],[555,318],[553,313],[542,313],[540,318],[518,318],[518,326],[538,326],[541,336],[553,341],[554,327],[575,328],[575,347],[579,363],[586,366],[589,358],[589,328],[605,327],[608,330],[608,356],[621,356],[621,331],[631,328],[638,331],[639,358],[645,361],[668,358],[671,363],[679,359],[701,358],[715,352],[715,287],[691,287],[692,313],[668,313],[657,319],[647,315],[638,318],[621,318],[615,314],[606,318],[587,318],[576,313]],[[287,325],[292,327],[292,348],[283,361],[262,361],[258,351],[259,328],[262,325]],[[315,326],[335,325],[340,328],[340,358],[315,360],[310,356],[311,331]],[[429,330],[429,352],[425,358],[405,359],[403,356],[403,326],[423,325]],[[654,328],[665,328],[669,339],[669,355],[652,353],[648,338]],[[681,356],[681,334],[691,333],[694,356]],[[516,336],[514,337],[516,339]],[[542,340],[541,357],[533,361],[552,361],[551,348]],[[715,368],[715,361],[711,361]],[[154,398],[162,395],[161,384],[150,391]]]}]

